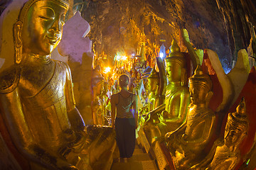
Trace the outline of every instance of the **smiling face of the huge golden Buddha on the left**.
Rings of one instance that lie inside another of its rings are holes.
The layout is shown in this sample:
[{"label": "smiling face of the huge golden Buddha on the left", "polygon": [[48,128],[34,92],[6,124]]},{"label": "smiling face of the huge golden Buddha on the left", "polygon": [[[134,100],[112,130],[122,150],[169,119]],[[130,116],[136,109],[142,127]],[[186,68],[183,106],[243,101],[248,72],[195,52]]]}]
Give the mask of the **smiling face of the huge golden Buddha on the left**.
[{"label": "smiling face of the huge golden Buddha on the left", "polygon": [[50,55],[61,40],[67,10],[68,5],[57,0],[33,3],[24,15],[22,26],[16,23],[14,28],[14,34],[23,42],[23,52]]}]

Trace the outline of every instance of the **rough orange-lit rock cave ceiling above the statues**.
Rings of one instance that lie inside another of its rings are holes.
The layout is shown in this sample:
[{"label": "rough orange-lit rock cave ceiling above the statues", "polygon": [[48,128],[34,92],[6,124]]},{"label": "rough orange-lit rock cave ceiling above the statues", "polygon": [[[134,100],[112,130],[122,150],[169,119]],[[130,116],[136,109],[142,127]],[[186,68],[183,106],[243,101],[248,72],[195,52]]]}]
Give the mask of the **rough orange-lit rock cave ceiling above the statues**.
[{"label": "rough orange-lit rock cave ceiling above the statues", "polygon": [[217,52],[228,72],[238,50],[250,45],[255,11],[251,0],[88,0],[82,17],[90,23],[97,55],[137,52],[143,33],[148,52],[154,53],[162,40],[168,48],[186,28],[193,46]]}]

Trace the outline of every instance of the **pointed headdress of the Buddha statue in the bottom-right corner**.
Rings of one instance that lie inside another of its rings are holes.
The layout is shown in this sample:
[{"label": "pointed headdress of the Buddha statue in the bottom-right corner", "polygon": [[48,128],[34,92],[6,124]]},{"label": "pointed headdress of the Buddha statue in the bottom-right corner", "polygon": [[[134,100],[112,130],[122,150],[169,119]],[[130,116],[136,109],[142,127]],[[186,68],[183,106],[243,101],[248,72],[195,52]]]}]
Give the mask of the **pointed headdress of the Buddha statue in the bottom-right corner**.
[{"label": "pointed headdress of the Buddha statue in the bottom-right corner", "polygon": [[247,131],[249,120],[246,115],[245,98],[242,98],[234,113],[228,113],[227,125]]}]

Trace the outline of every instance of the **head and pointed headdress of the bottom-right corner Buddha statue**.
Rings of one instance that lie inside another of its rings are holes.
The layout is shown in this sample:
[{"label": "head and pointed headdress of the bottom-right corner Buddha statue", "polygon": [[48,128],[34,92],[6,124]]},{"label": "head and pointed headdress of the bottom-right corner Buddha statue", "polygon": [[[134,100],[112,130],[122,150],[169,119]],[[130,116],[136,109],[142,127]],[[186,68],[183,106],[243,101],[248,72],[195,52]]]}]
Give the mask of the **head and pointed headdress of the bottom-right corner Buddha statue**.
[{"label": "head and pointed headdress of the bottom-right corner Buddha statue", "polygon": [[249,120],[246,115],[245,98],[242,98],[236,112],[228,114],[228,122],[225,126],[225,145],[238,146],[247,135]]}]

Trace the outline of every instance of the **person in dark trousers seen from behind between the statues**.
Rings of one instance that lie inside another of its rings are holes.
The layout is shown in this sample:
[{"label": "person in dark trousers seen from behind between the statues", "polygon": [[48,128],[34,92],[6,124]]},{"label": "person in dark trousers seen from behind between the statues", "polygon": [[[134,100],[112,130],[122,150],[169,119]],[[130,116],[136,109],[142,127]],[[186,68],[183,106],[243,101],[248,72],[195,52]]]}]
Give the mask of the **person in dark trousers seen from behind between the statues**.
[{"label": "person in dark trousers seen from behind between the statues", "polygon": [[134,152],[135,130],[138,127],[138,99],[137,95],[127,90],[128,84],[129,77],[122,74],[119,77],[121,91],[111,96],[112,128],[116,130],[120,159],[124,162]]}]

